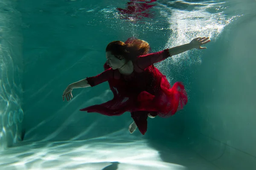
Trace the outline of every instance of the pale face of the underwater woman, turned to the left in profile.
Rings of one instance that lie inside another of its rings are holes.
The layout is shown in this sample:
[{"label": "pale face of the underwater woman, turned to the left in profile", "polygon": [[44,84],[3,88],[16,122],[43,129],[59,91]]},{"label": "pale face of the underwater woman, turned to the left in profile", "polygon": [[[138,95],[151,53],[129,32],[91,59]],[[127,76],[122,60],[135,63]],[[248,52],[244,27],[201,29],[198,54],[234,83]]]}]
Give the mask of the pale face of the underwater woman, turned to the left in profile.
[{"label": "pale face of the underwater woman, turned to the left in profile", "polygon": [[115,57],[111,51],[106,52],[107,64],[113,69],[121,68],[125,64],[125,59],[122,56]]}]

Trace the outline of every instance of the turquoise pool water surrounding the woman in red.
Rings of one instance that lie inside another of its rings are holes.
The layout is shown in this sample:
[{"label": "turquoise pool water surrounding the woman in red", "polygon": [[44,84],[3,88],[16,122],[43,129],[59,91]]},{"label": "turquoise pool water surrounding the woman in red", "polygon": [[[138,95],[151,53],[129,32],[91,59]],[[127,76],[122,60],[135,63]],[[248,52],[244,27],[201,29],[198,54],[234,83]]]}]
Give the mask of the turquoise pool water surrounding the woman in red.
[{"label": "turquoise pool water surrounding the woman in red", "polygon": [[[157,0],[141,19],[116,10],[127,2],[0,0],[0,169],[255,169],[256,1]],[[129,133],[129,113],[79,111],[111,99],[107,83],[61,98],[103,71],[109,42],[132,36],[153,52],[212,40],[156,65],[189,102],[148,119],[144,136]]]}]

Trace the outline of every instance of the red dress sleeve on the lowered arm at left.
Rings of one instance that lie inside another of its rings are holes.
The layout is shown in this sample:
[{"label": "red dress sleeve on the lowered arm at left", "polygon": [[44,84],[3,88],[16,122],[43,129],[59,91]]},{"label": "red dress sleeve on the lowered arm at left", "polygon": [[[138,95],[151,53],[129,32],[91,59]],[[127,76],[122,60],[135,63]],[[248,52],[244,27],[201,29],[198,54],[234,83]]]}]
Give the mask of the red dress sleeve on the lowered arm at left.
[{"label": "red dress sleeve on the lowered arm at left", "polygon": [[93,87],[99,85],[102,82],[106,82],[109,79],[113,78],[113,69],[109,68],[108,70],[103,71],[102,73],[98,74],[94,77],[87,77],[88,84]]}]

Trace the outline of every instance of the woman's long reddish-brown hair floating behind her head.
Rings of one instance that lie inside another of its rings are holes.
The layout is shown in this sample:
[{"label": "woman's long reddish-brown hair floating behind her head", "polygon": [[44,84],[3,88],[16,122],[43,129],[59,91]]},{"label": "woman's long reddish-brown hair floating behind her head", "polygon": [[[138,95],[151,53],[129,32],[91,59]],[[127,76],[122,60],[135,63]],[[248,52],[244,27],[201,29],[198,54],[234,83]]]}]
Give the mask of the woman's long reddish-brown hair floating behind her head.
[{"label": "woman's long reddish-brown hair floating behind her head", "polygon": [[127,60],[132,60],[137,56],[148,54],[149,44],[139,39],[133,40],[128,44],[122,41],[112,41],[106,47],[106,52],[108,51],[117,58],[121,55]]}]

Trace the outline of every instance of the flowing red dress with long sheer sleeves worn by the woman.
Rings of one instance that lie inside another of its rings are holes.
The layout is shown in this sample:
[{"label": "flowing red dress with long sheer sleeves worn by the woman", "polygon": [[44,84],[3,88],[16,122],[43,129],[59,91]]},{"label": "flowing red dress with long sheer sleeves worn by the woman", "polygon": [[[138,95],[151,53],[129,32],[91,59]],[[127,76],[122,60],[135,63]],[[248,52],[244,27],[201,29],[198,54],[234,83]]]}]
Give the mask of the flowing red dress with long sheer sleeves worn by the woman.
[{"label": "flowing red dress with long sheer sleeves worn by the woman", "polygon": [[169,117],[187,103],[187,94],[181,82],[171,87],[154,63],[170,57],[169,50],[138,56],[134,59],[131,75],[122,75],[105,64],[105,71],[95,77],[87,77],[91,87],[108,81],[113,99],[80,111],[96,112],[107,116],[119,116],[131,112],[138,129],[147,131],[148,113],[152,116]]}]

